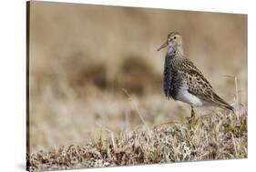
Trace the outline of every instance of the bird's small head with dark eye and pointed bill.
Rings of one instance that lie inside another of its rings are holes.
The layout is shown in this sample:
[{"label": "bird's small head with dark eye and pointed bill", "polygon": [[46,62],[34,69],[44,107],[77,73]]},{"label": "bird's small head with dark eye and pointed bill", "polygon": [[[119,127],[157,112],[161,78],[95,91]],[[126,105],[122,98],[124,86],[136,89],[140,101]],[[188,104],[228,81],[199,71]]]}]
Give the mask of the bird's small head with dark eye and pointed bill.
[{"label": "bird's small head with dark eye and pointed bill", "polygon": [[166,42],[159,47],[158,51],[166,46],[169,47],[176,47],[176,46],[181,46],[182,45],[182,37],[178,32],[171,32],[167,36]]}]

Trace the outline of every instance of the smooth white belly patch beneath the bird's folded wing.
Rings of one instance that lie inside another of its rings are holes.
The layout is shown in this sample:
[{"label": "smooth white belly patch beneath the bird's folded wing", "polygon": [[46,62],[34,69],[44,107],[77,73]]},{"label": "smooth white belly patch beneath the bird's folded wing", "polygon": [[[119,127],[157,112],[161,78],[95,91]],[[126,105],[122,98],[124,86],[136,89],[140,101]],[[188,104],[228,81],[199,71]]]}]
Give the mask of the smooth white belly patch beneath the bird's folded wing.
[{"label": "smooth white belly patch beneath the bird's folded wing", "polygon": [[186,88],[179,89],[176,99],[191,106],[205,106],[205,101],[197,96],[191,95]]}]

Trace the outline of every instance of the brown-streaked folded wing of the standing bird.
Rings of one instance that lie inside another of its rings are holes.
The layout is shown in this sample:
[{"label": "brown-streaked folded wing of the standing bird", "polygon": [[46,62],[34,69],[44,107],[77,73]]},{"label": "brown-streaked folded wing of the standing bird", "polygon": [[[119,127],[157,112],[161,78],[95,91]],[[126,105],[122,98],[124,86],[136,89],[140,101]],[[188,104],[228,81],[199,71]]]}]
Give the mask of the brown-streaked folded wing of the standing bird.
[{"label": "brown-streaked folded wing of the standing bird", "polygon": [[200,70],[189,61],[189,59],[186,59],[186,61],[182,63],[179,71],[185,78],[184,82],[186,82],[190,94],[198,96],[210,104],[228,108],[230,110],[233,109],[232,106],[226,103],[214,92],[214,89],[210,86],[210,82],[202,75]]}]

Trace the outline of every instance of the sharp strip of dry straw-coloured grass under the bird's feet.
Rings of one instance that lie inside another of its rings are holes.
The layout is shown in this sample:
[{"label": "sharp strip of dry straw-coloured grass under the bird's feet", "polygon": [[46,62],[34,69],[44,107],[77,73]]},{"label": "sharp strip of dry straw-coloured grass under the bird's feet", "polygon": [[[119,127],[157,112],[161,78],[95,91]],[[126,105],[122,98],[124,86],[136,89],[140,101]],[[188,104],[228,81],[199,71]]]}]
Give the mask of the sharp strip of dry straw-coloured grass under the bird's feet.
[{"label": "sharp strip of dry straw-coloured grass under the bird's feet", "polygon": [[118,137],[84,146],[38,151],[28,159],[29,170],[116,167],[247,157],[247,112],[224,111],[182,124],[142,126]]}]

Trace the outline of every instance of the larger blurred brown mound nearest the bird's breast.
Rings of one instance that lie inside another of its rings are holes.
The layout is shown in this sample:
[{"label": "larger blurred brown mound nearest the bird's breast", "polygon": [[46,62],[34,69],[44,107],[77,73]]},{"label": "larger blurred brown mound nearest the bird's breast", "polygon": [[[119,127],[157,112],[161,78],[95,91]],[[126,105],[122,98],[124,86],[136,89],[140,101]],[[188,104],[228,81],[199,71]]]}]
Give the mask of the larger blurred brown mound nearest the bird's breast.
[{"label": "larger blurred brown mound nearest the bird's breast", "polygon": [[128,56],[119,66],[113,83],[116,90],[125,88],[129,93],[141,96],[159,91],[161,77],[146,59],[139,56]]}]

